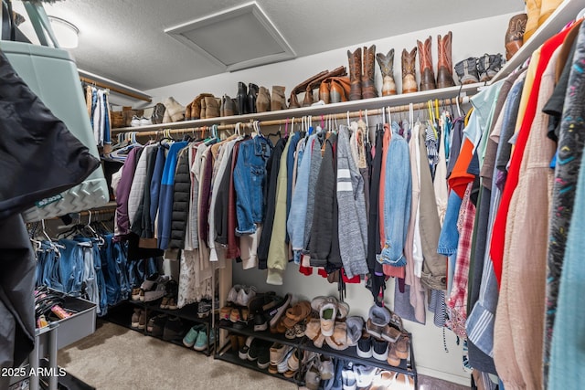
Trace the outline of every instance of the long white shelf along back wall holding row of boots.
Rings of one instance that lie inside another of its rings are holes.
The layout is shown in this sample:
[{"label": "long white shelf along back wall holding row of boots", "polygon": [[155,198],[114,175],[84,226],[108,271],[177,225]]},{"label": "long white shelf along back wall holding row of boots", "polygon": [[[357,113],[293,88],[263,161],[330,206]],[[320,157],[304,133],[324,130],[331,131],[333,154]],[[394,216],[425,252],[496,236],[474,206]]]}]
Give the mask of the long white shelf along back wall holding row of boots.
[{"label": "long white shelf along back wall holding row of boots", "polygon": [[207,126],[213,124],[226,124],[250,121],[270,121],[285,118],[301,118],[309,115],[327,115],[332,113],[373,110],[382,107],[396,107],[410,103],[421,103],[428,100],[448,99],[472,96],[476,94],[484,83],[458,85],[455,87],[442,88],[440,90],[425,90],[421,92],[406,93],[394,96],[384,96],[372,99],[344,101],[321,106],[301,107],[280,111],[259,112],[255,114],[234,115],[229,117],[207,118],[196,121],[176,121],[172,123],[152,124],[140,127],[121,127],[112,129],[112,132],[147,132],[163,129],[186,129],[189,127]]}]

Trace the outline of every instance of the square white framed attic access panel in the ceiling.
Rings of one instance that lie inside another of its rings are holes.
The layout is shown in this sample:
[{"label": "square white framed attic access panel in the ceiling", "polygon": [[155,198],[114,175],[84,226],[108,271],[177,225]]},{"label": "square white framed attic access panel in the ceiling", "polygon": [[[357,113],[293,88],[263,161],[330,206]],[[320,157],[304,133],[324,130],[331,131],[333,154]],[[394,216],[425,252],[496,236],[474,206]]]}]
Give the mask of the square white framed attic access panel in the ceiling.
[{"label": "square white framed attic access panel in the ceiling", "polygon": [[295,57],[256,2],[166,28],[165,33],[228,71]]}]

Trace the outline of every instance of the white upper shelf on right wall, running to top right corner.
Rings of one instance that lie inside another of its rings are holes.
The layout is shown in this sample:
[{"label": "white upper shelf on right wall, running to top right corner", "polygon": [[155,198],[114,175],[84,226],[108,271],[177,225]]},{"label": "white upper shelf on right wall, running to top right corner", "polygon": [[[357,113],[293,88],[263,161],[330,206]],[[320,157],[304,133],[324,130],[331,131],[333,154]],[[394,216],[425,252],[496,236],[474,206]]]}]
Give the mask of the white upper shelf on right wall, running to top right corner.
[{"label": "white upper shelf on right wall, running to top right corner", "polygon": [[585,8],[585,0],[565,0],[553,12],[542,26],[539,26],[537,31],[527,40],[527,42],[520,47],[514,57],[510,58],[500,69],[495,77],[490,81],[494,83],[500,79],[505,79],[510,73],[522,65],[532,53],[540,47],[545,41],[557,34],[564,26],[579,15],[580,11]]}]

